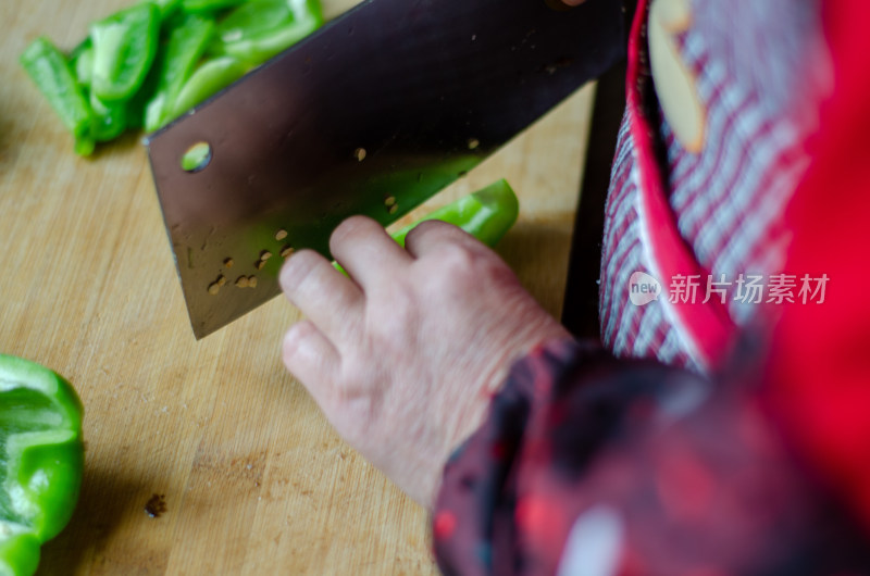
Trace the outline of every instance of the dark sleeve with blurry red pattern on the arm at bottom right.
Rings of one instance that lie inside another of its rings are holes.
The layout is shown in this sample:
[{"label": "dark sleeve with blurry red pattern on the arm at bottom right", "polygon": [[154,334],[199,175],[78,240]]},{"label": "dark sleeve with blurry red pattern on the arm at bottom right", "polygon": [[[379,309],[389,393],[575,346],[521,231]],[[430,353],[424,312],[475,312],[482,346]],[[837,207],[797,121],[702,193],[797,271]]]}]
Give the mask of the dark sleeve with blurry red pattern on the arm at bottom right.
[{"label": "dark sleeve with blurry red pattern on the arm at bottom right", "polygon": [[535,350],[446,466],[440,569],[869,573],[870,541],[793,458],[743,372],[706,380],[574,341]]}]

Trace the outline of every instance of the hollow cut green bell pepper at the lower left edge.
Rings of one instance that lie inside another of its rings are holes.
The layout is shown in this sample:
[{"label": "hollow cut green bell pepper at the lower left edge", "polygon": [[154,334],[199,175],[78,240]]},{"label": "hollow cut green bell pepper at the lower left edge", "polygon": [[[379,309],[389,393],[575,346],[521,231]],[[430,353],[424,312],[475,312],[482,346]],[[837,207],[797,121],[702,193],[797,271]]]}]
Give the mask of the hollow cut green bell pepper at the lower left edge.
[{"label": "hollow cut green bell pepper at the lower left edge", "polygon": [[82,402],[57,373],[0,354],[0,574],[30,575],[73,514],[84,468]]}]

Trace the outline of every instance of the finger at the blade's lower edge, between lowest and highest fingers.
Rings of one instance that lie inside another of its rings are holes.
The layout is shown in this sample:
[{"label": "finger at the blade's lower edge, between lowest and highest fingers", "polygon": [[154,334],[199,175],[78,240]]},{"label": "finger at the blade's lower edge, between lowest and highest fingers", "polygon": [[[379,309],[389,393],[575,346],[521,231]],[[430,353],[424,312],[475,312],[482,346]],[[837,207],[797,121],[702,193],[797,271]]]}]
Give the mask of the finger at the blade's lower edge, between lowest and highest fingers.
[{"label": "finger at the blade's lower edge, between lowest and highest fingers", "polygon": [[281,271],[281,287],[335,343],[346,341],[362,318],[362,290],[312,250],[300,250],[287,260]]}]

